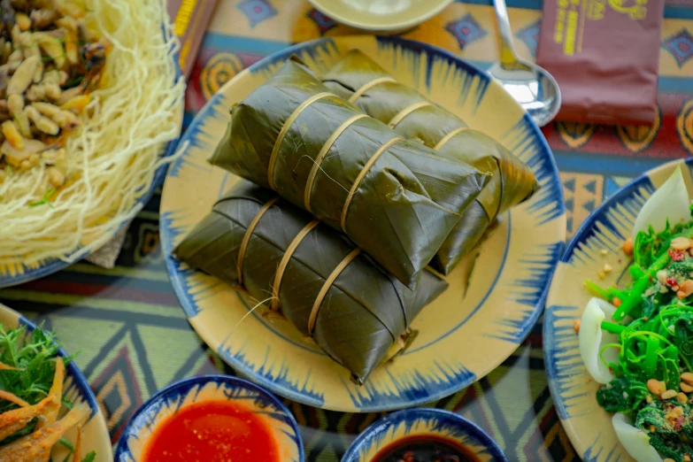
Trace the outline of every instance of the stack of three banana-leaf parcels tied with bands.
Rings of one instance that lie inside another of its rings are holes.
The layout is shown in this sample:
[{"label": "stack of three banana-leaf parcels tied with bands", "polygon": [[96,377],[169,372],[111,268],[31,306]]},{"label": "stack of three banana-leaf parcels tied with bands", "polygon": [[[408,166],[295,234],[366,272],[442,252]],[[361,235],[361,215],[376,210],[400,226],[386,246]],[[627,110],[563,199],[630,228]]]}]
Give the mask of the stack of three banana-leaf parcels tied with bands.
[{"label": "stack of three banana-leaf parcels tied with bands", "polygon": [[[359,60],[374,65],[350,53],[328,89],[289,58],[231,109],[210,161],[258,186],[240,181],[174,253],[267,299],[362,383],[411,338],[414,317],[447,287],[427,265],[449,271],[536,182],[520,160],[460,129],[464,122],[450,112],[438,114],[451,118],[450,134],[420,142],[424,127],[393,130],[391,118],[343,99],[377,87],[366,81],[349,95],[356,81],[335,83]],[[418,112],[411,101],[397,102],[396,128]]]}]

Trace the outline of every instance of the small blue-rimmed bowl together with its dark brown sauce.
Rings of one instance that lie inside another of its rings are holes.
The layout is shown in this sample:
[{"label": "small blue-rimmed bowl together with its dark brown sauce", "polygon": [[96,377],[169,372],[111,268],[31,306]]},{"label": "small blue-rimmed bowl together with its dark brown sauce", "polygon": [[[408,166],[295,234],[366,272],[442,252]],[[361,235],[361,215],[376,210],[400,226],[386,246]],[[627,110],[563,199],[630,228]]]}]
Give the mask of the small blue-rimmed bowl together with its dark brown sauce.
[{"label": "small blue-rimmed bowl together with its dark brown sauce", "polygon": [[358,435],[342,462],[508,462],[481,427],[453,412],[393,412]]}]

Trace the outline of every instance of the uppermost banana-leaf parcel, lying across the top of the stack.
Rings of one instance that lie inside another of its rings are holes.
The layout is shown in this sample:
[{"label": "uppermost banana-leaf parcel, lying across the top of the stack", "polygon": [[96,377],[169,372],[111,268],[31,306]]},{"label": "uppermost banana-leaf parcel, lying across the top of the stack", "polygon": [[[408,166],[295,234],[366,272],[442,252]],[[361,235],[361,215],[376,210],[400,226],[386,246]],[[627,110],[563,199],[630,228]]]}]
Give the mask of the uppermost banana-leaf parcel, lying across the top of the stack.
[{"label": "uppermost banana-leaf parcel, lying across the top of the stack", "polygon": [[231,109],[210,162],[343,231],[410,289],[490,177],[402,139],[296,58]]}]

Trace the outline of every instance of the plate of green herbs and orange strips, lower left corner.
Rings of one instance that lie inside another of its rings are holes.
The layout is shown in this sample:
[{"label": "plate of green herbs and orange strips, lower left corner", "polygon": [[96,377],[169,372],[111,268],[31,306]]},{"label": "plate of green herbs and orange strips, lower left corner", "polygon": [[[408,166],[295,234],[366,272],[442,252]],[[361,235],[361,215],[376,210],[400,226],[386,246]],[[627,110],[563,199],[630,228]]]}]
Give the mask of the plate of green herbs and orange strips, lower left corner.
[{"label": "plate of green herbs and orange strips, lower left corner", "polygon": [[58,336],[0,304],[0,460],[112,462],[104,415]]}]

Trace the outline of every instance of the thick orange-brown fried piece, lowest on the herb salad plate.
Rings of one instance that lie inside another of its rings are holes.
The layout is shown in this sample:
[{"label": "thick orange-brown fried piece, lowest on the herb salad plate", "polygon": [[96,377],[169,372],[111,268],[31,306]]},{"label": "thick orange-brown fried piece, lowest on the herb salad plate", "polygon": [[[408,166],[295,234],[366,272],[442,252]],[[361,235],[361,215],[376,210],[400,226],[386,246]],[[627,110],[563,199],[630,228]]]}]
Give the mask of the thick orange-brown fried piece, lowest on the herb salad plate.
[{"label": "thick orange-brown fried piece, lowest on the herb salad plate", "polygon": [[[52,397],[51,397],[52,398]],[[68,412],[61,420],[49,427],[36,430],[33,434],[23,436],[0,448],[0,460],[3,462],[35,462],[50,452],[65,432],[89,415],[89,406],[80,404]]]}]

